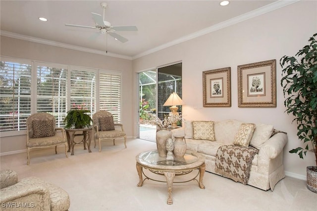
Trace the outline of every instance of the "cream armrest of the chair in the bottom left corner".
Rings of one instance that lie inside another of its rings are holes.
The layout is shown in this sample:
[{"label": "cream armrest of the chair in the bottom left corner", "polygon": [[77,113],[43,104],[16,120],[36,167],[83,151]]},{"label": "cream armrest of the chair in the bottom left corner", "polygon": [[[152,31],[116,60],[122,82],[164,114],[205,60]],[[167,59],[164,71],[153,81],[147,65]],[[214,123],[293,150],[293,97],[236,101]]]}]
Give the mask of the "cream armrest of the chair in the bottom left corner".
[{"label": "cream armrest of the chair in the bottom left corner", "polygon": [[0,203],[4,210],[19,204],[27,205],[34,210],[51,210],[50,192],[46,185],[18,182],[2,188],[0,190]]}]

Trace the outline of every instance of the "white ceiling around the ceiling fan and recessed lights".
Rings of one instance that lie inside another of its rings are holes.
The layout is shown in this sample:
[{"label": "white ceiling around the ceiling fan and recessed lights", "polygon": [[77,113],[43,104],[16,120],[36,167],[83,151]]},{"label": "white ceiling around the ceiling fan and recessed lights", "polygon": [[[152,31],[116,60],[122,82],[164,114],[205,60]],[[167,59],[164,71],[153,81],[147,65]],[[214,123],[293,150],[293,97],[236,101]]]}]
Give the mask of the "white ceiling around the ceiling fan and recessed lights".
[{"label": "white ceiling around the ceiling fan and recessed lights", "polygon": [[[91,12],[103,14],[113,26],[135,25],[137,32],[117,32],[129,41],[121,43],[97,29]],[[77,48],[86,51],[137,58],[157,49],[183,42],[281,7],[276,0],[1,0],[1,35]],[[285,2],[283,3],[285,4]],[[283,6],[283,5],[282,5]],[[260,8],[260,9],[259,9]],[[38,18],[46,17],[47,22]],[[13,34],[14,33],[14,34]],[[62,43],[62,44],[61,44]]]}]

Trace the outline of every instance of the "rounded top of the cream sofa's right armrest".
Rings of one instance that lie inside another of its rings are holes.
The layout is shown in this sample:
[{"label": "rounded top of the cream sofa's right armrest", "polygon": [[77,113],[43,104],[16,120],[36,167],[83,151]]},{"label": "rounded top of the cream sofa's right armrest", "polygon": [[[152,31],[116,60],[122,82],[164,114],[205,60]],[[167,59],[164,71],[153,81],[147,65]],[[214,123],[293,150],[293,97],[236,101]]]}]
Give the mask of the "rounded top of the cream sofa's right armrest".
[{"label": "rounded top of the cream sofa's right armrest", "polygon": [[260,154],[266,155],[269,159],[276,158],[282,151],[287,142],[287,135],[279,132],[270,137],[261,147]]}]

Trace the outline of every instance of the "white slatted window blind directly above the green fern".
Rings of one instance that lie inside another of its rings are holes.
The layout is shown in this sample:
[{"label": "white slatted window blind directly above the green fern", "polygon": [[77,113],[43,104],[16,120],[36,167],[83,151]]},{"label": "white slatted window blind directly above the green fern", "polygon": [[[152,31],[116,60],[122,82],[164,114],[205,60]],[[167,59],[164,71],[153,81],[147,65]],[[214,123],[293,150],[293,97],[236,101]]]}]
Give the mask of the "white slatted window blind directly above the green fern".
[{"label": "white slatted window blind directly above the green fern", "polygon": [[96,111],[96,70],[71,70],[70,109],[86,109],[91,114]]}]

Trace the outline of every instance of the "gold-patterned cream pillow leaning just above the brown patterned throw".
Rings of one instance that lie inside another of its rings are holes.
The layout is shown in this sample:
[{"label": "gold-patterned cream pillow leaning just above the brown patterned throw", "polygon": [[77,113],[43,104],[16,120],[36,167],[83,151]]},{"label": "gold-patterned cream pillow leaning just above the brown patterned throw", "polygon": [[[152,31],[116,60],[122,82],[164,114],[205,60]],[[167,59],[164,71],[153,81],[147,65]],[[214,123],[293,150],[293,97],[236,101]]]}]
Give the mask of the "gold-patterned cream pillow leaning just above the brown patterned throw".
[{"label": "gold-patterned cream pillow leaning just above the brown patterned throw", "polygon": [[234,136],[233,144],[248,147],[252,139],[256,125],[253,123],[242,123]]}]

